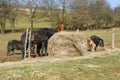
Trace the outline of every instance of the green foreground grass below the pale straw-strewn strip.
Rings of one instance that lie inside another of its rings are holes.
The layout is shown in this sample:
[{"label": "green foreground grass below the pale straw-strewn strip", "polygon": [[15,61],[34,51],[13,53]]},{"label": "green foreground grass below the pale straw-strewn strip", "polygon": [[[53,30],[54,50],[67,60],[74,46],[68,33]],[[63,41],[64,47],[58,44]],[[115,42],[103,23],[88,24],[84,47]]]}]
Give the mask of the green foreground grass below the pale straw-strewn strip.
[{"label": "green foreground grass below the pale straw-strewn strip", "polygon": [[[92,66],[91,66],[92,65]],[[120,54],[98,59],[58,60],[0,67],[0,80],[119,80]]]}]

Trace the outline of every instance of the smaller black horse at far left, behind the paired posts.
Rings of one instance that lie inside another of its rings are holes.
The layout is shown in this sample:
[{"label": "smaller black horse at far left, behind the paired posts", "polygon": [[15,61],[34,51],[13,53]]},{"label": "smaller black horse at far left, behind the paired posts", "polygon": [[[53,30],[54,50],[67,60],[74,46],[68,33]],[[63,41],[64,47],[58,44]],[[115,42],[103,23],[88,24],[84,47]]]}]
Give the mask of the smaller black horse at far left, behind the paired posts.
[{"label": "smaller black horse at far left, behind the paired posts", "polygon": [[[24,43],[21,40],[11,40],[8,42],[8,45],[7,45],[7,55],[9,56],[11,51],[14,54],[15,49],[21,50],[21,59],[24,59],[24,53],[25,53],[24,47],[25,47]],[[26,49],[27,48],[28,48],[28,43],[26,45]],[[34,54],[34,49],[35,49],[35,46],[31,42],[30,51],[32,54]]]}]

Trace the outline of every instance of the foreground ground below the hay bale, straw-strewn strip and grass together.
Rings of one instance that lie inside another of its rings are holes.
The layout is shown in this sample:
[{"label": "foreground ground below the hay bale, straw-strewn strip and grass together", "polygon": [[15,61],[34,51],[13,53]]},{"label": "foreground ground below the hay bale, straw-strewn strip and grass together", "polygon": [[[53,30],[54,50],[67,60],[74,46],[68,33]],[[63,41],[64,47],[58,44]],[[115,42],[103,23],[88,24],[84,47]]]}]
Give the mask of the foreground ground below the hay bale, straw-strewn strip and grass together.
[{"label": "foreground ground below the hay bale, straw-strewn strip and grass together", "polygon": [[[3,56],[3,55],[2,55]],[[119,80],[120,49],[76,57],[1,57],[0,80]]]}]

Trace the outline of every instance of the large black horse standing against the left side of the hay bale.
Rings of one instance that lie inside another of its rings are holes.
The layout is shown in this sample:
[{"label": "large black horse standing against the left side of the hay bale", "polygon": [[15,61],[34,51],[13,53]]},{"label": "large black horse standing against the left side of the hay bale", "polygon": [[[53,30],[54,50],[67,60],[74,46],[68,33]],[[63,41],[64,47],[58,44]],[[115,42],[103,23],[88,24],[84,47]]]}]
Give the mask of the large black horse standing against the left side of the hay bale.
[{"label": "large black horse standing against the left side of the hay bale", "polygon": [[[52,30],[48,28],[39,28],[37,30],[31,31],[33,42],[37,45],[36,52],[39,56],[48,55],[47,54],[48,39],[56,32],[57,32],[56,30]],[[21,36],[21,40],[23,42],[25,41],[25,37],[26,37],[26,33],[23,33]]]}]

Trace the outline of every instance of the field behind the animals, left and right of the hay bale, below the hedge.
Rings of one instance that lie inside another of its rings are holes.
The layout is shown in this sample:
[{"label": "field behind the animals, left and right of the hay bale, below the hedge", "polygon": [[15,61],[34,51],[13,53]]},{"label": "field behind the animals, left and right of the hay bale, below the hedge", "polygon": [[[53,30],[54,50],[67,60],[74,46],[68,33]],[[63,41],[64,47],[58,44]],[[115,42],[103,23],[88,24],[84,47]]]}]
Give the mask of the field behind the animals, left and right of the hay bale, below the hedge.
[{"label": "field behind the animals, left and right of the hay bale, below the hedge", "polygon": [[[73,31],[75,32],[75,31]],[[115,28],[115,47],[120,48],[120,28]],[[86,30],[86,31],[79,31],[80,34],[83,34],[86,38],[89,38],[91,35],[98,35],[104,39],[104,43],[106,48],[111,49],[112,47],[112,29],[106,30]],[[15,51],[15,55],[11,55],[7,57],[7,43],[9,40],[17,39],[20,40],[22,32],[15,32],[15,33],[6,33],[0,34],[0,61],[16,61],[20,60],[20,51]],[[101,48],[98,47],[98,51]]]}]

